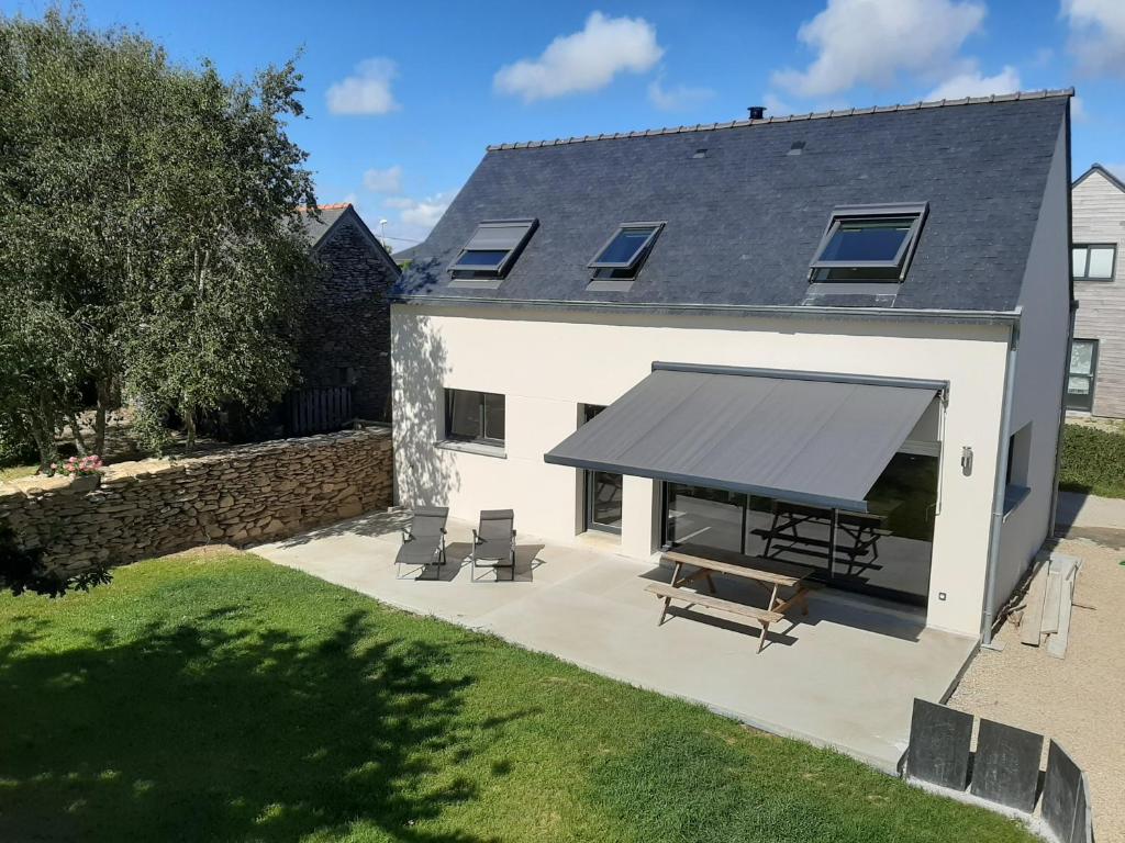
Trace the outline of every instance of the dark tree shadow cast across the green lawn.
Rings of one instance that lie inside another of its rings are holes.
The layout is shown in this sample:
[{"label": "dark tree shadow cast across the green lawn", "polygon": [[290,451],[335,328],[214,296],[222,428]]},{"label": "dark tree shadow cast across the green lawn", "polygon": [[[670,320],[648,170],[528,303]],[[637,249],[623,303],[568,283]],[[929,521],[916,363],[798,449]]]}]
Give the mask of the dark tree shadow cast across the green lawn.
[{"label": "dark tree shadow cast across the green lawn", "polygon": [[[346,615],[316,641],[237,606],[0,663],[0,840],[483,841],[420,828],[477,797],[450,649]],[[376,634],[372,634],[376,633]],[[495,771],[494,771],[495,774]]]}]

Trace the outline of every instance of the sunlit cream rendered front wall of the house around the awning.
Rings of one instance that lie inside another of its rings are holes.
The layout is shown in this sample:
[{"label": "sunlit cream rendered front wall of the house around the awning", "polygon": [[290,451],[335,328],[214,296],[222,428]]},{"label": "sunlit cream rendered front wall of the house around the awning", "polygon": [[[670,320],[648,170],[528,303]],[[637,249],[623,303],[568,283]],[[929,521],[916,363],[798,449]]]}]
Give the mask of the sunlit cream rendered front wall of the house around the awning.
[{"label": "sunlit cream rendered front wall of the house around the awning", "polygon": [[[395,460],[398,501],[438,504],[475,520],[512,507],[516,527],[574,541],[577,471],[543,454],[578,425],[578,405],[609,405],[654,361],[798,369],[951,383],[935,522],[928,623],[980,633],[1008,328],[903,321],[606,316],[396,305]],[[435,447],[442,388],[506,396],[505,456]],[[973,450],[971,475],[961,469]],[[656,489],[626,478],[621,551],[657,547]],[[938,599],[944,593],[945,599]]]}]

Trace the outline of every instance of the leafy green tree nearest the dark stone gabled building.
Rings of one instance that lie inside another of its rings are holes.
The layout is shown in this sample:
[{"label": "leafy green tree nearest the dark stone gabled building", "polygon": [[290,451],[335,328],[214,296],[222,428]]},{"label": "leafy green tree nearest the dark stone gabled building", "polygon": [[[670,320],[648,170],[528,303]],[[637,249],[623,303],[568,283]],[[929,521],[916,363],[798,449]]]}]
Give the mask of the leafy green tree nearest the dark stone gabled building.
[{"label": "leafy green tree nearest the dark stone gabled building", "polygon": [[284,123],[303,114],[299,80],[291,62],[250,83],[206,63],[165,91],[153,194],[174,236],[129,294],[127,386],[143,397],[145,429],[158,432],[169,409],[180,415],[189,451],[200,411],[262,407],[294,380],[315,278],[295,212],[316,207],[312,176]]}]

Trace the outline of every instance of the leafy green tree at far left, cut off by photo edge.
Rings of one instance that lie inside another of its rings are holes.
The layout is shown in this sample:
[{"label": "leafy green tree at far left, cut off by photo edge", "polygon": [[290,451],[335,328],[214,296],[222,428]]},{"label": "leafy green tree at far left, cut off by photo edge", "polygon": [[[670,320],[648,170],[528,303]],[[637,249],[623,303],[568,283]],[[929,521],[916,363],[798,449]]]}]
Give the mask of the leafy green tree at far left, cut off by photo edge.
[{"label": "leafy green tree at far left, cut off by photo edge", "polygon": [[73,16],[0,18],[0,369],[22,384],[0,407],[30,427],[45,464],[76,423],[80,388],[97,386],[94,451],[122,370],[120,301],[153,246],[143,162],[163,52],[127,31],[99,34]]}]

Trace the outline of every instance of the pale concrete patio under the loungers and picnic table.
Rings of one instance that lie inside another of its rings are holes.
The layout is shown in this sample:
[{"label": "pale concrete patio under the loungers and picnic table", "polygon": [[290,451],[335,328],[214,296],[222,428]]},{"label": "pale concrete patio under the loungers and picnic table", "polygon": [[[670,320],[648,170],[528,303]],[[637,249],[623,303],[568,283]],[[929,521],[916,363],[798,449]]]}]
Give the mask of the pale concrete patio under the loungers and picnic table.
[{"label": "pale concrete patio under the loungers and picnic table", "polygon": [[[906,749],[912,698],[942,699],[975,645],[925,628],[908,609],[820,590],[809,615],[771,628],[755,655],[756,629],[702,611],[673,609],[657,628],[660,601],[645,586],[667,582],[670,571],[655,558],[616,555],[609,537],[546,545],[521,533],[514,582],[470,582],[468,565],[458,563],[474,525],[450,519],[450,564],[440,581],[425,582],[406,569],[399,578],[394,564],[406,522],[403,513],[369,514],[253,550],[392,606],[834,746],[886,771]],[[716,580],[720,597],[763,601],[750,584]]]}]

